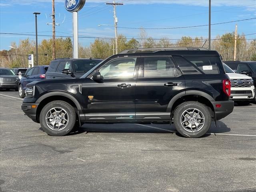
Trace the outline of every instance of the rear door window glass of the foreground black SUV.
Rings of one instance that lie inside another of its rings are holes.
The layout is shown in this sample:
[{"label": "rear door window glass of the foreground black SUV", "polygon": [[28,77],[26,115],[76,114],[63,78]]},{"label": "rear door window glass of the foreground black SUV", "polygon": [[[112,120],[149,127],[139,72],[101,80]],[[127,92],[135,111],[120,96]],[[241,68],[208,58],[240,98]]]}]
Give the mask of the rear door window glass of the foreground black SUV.
[{"label": "rear door window glass of the foreground black SUV", "polygon": [[169,57],[145,57],[144,77],[174,77],[174,64]]}]

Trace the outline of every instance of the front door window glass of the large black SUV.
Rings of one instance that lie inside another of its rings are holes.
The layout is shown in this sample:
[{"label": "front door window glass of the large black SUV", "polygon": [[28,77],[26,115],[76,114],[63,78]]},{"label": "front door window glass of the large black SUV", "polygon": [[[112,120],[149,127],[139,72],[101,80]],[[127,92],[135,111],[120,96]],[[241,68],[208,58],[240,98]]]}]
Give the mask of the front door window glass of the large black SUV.
[{"label": "front door window glass of the large black SUV", "polygon": [[132,78],[136,58],[121,58],[106,63],[99,72],[103,78]]}]

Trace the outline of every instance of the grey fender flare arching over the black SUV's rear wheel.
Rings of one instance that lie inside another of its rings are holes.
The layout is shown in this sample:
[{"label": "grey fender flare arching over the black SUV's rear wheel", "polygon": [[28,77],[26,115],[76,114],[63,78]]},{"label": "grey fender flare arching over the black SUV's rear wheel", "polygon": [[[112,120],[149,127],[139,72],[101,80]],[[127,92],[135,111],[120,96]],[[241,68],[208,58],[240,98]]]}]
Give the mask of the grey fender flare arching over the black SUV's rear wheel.
[{"label": "grey fender flare arching over the black SUV's rear wheel", "polygon": [[202,96],[206,99],[208,99],[210,102],[211,101],[215,101],[214,98],[212,98],[212,96],[210,96],[209,94],[202,92],[202,91],[198,91],[198,90],[189,90],[189,91],[183,91],[180,92],[178,94],[176,94],[169,102],[168,106],[167,106],[167,112],[172,112],[172,106],[173,104],[181,97],[183,96],[188,96],[188,95],[199,95]]}]

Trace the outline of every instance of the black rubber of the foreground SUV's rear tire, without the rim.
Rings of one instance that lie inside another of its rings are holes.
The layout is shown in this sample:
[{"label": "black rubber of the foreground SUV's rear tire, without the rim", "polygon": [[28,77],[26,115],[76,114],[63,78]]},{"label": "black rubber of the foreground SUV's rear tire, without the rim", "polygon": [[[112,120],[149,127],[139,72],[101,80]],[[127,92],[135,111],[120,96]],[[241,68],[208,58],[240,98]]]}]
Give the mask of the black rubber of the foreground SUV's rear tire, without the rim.
[{"label": "black rubber of the foreground SUV's rear tire, without the rim", "polygon": [[[196,108],[204,114],[205,124],[202,127],[202,129],[199,130],[198,132],[194,132],[194,133],[188,132],[180,124],[180,116],[188,108]],[[175,125],[177,131],[182,136],[187,137],[187,138],[198,138],[198,137],[203,136],[209,130],[211,123],[212,123],[212,119],[211,119],[211,114],[210,114],[208,107],[199,102],[182,103],[176,108],[175,113],[174,113],[174,125]]]}]

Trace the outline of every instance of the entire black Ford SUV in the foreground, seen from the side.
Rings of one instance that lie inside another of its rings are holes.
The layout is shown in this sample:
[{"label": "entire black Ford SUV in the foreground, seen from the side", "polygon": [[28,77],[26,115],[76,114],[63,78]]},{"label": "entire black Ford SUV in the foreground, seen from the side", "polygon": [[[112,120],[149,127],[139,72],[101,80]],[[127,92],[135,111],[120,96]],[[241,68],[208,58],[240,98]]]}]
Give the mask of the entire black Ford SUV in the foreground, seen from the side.
[{"label": "entire black Ford SUV in the foreground, seen from the side", "polygon": [[233,111],[220,55],[203,48],[125,50],[81,78],[27,85],[22,110],[49,135],[82,123],[172,123],[203,136]]}]

